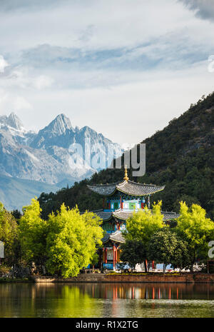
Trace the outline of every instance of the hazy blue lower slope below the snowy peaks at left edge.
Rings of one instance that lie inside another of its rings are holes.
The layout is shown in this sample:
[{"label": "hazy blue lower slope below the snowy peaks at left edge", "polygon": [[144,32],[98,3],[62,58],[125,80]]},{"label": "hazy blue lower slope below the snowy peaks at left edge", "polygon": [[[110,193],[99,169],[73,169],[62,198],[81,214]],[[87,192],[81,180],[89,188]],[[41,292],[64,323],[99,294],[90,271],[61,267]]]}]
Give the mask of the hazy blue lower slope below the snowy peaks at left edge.
[{"label": "hazy blue lower slope below the snowy peaks at left edge", "polygon": [[22,206],[31,203],[34,196],[39,197],[43,191],[56,190],[56,186],[47,183],[0,176],[0,201],[8,210],[18,208],[21,211]]}]

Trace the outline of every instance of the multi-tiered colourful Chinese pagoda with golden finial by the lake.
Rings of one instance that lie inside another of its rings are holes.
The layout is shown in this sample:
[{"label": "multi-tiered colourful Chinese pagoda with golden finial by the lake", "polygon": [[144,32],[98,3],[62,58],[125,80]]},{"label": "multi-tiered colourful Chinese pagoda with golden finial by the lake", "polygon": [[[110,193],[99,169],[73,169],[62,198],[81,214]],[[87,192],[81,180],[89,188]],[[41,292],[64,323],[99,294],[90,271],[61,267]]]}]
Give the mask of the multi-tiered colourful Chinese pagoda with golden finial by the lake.
[{"label": "multi-tiered colourful Chinese pagoda with golden finial by the lake", "polygon": [[[111,184],[88,186],[95,193],[107,198],[108,208],[93,211],[103,220],[103,230],[106,235],[103,238],[103,258],[100,255],[100,265],[103,268],[115,269],[120,262],[120,246],[125,240],[121,231],[126,229],[126,219],[134,211],[140,211],[147,206],[150,208],[150,196],[162,191],[165,186],[153,184],[141,184],[128,180],[127,168],[123,181]],[[104,198],[103,198],[104,202]],[[178,218],[175,212],[161,212],[163,221]]]}]

